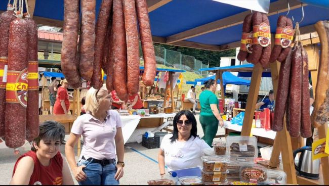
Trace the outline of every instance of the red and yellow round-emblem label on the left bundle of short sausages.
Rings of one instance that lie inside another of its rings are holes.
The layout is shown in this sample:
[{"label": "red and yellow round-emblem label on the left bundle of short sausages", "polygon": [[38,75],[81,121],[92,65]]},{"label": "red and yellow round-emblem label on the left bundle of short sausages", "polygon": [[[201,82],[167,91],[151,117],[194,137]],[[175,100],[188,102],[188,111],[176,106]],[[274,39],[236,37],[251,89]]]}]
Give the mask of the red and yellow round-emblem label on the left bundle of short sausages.
[{"label": "red and yellow round-emblem label on the left bundle of short sausages", "polygon": [[260,44],[263,47],[271,44],[271,29],[266,23],[253,26],[254,44]]}]

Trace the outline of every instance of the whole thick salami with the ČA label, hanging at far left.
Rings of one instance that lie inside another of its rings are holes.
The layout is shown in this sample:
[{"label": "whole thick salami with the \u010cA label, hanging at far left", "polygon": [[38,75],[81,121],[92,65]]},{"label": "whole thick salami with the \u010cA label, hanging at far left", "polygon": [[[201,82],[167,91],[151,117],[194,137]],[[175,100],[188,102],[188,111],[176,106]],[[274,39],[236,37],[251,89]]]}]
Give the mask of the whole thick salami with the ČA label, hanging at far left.
[{"label": "whole thick salami with the \u010cA label, hanging at far left", "polygon": [[[24,83],[27,84],[27,50],[27,22],[17,18],[10,23],[8,43],[5,127],[6,146],[9,148],[18,148],[25,143],[26,105],[24,107],[22,104],[26,104],[24,98],[27,86]],[[14,77],[10,78],[11,75]],[[21,86],[17,86],[16,79],[23,80],[22,82],[18,81]],[[15,94],[19,100],[16,100]]]}]

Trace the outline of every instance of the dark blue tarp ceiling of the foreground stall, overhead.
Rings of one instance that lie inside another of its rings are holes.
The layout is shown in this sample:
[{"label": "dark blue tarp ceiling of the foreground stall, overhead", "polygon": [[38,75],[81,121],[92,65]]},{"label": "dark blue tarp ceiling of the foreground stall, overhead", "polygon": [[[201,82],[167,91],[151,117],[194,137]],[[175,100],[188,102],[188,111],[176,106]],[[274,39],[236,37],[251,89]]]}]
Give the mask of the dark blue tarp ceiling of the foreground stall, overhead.
[{"label": "dark blue tarp ceiling of the foreground stall, overhead", "polygon": [[[102,0],[96,0],[96,15],[98,15],[101,1]],[[7,9],[7,2],[8,1],[0,1],[1,11],[5,11]],[[271,4],[277,3],[277,0],[270,0],[270,2]],[[289,2],[290,4],[295,5],[291,6],[292,9],[294,7],[298,7],[298,4],[300,3],[297,0],[291,0]],[[283,8],[281,6],[281,9],[286,8],[287,5]],[[193,29],[217,20],[228,18],[245,11],[248,10],[212,0],[173,0],[149,13],[151,32],[153,36],[162,37],[164,38],[162,42],[166,42],[166,37],[168,36],[172,36],[174,34],[187,31],[189,29]],[[301,27],[313,25],[319,20],[329,19],[329,10],[325,8],[308,5],[304,7],[304,13],[304,20],[300,23]],[[48,24],[49,26],[59,26],[63,24],[63,14],[63,1],[35,1],[34,17],[37,17],[37,21],[45,19],[43,20],[44,24]],[[279,15],[285,14],[286,12],[282,12]],[[272,14],[269,16],[271,33],[275,33],[276,21],[279,15],[272,12]],[[294,16],[295,20],[301,20],[301,8],[290,10],[288,17],[291,18],[292,16]],[[243,20],[243,17],[241,20]],[[238,19],[237,22],[235,20],[234,23],[227,21],[227,23],[223,23],[226,25],[219,25],[219,27],[225,27],[223,29],[213,29],[214,31],[209,33],[203,32],[201,34],[196,34],[196,36],[187,38],[183,41],[192,41],[212,45],[223,45],[239,41],[241,39],[242,31],[241,20]],[[314,31],[313,27],[311,29]],[[308,29],[305,30],[308,31]],[[180,43],[177,44],[179,45]],[[195,47],[201,48],[201,46],[196,45]]]}]

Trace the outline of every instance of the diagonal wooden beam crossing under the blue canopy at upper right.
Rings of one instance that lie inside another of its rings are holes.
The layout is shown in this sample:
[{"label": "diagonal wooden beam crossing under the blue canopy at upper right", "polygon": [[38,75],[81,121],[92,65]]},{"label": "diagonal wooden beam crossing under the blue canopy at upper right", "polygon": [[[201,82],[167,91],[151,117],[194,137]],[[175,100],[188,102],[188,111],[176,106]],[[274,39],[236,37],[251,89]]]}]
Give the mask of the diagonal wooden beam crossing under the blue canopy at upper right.
[{"label": "diagonal wooden beam crossing under the blue canopy at upper right", "polygon": [[[289,2],[290,10],[294,10],[301,7],[301,3],[294,0]],[[305,5],[306,6],[306,5]],[[277,2],[270,4],[270,10],[267,16],[272,16],[277,14],[277,12],[286,12],[288,10],[287,1],[279,0]],[[232,27],[235,25],[239,25],[243,22],[243,19],[246,15],[250,14],[250,11],[244,11],[239,14],[235,14],[233,16],[225,17],[223,19],[204,24],[190,30],[186,30],[184,32],[180,32],[174,35],[167,37],[167,43],[174,43],[180,40],[185,40],[191,37],[196,37],[198,35],[203,35],[209,32],[221,30],[224,28]]]}]

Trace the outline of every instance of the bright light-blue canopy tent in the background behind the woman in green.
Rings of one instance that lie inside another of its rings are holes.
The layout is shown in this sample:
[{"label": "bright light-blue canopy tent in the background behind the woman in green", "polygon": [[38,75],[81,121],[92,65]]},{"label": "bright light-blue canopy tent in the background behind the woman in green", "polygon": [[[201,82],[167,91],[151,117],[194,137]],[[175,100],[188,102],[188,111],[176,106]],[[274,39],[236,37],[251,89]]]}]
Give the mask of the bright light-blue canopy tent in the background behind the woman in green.
[{"label": "bright light-blue canopy tent in the background behind the woman in green", "polygon": [[[204,81],[207,81],[209,79],[216,79],[216,75],[195,79],[195,81],[201,81],[203,83]],[[219,79],[217,80],[217,83],[220,83]],[[225,86],[226,84],[250,85],[250,80],[238,78],[235,75],[233,75],[231,72],[224,72],[223,85]]]}]

